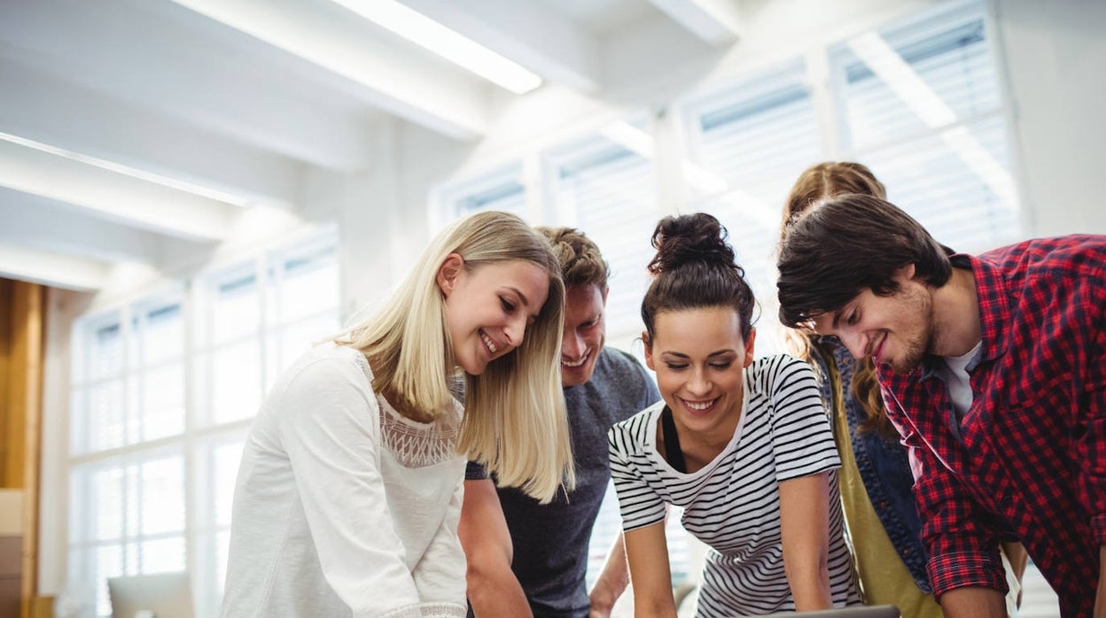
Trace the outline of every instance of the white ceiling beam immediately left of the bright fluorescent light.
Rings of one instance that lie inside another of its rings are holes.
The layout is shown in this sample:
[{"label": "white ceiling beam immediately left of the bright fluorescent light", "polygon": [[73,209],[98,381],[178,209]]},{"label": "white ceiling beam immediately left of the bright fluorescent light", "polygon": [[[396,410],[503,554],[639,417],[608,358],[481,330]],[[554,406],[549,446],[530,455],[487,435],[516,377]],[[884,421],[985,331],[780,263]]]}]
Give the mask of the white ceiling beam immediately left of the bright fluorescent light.
[{"label": "white ceiling beam immediately left of the bright fluorescent light", "polygon": [[174,0],[331,73],[332,86],[461,140],[488,128],[488,84],[337,4],[274,0]]}]

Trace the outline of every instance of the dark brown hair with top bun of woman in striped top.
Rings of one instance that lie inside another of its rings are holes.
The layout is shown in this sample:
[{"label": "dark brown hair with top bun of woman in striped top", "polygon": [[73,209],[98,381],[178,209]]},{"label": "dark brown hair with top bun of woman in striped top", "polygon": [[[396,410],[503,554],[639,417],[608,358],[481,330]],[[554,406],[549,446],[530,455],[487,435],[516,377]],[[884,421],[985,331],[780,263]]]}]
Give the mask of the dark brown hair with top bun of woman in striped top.
[{"label": "dark brown hair with top bun of woman in striped top", "polygon": [[731,307],[749,341],[757,304],[745,271],[733,262],[726,228],[705,212],[666,217],[653,232],[657,254],[649,262],[654,275],[641,301],[641,321],[650,339],[657,314],[700,307]]}]

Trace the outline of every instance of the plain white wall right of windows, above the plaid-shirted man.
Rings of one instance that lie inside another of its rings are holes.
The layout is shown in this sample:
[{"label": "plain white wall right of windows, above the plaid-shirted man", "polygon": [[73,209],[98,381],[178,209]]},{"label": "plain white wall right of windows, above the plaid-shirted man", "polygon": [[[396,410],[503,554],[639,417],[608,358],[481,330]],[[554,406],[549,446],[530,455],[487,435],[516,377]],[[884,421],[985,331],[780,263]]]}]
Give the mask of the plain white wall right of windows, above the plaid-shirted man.
[{"label": "plain white wall right of windows, above the plaid-shirted man", "polygon": [[1031,235],[1106,233],[1106,2],[993,0]]}]

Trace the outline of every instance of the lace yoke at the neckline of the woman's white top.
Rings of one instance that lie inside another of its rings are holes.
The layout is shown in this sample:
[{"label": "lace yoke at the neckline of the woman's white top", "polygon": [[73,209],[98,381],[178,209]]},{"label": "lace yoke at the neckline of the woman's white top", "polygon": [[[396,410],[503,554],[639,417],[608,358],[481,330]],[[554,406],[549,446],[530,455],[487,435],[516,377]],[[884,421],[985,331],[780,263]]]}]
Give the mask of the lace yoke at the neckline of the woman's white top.
[{"label": "lace yoke at the neckline of the woman's white top", "polygon": [[434,422],[416,422],[399,415],[377,395],[384,444],[404,468],[426,468],[457,457],[460,410],[455,407]]}]

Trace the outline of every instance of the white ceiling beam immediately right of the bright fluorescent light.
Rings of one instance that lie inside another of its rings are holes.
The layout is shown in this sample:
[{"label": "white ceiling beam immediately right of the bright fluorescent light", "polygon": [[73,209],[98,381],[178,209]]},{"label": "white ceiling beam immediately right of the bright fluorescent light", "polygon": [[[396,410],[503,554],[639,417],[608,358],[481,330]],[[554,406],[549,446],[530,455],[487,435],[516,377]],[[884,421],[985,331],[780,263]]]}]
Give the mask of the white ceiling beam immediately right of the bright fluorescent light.
[{"label": "white ceiling beam immediately right of the bright fluorescent light", "polygon": [[404,4],[549,82],[583,92],[599,87],[595,36],[539,2],[404,0]]}]

